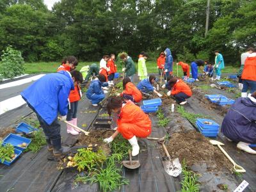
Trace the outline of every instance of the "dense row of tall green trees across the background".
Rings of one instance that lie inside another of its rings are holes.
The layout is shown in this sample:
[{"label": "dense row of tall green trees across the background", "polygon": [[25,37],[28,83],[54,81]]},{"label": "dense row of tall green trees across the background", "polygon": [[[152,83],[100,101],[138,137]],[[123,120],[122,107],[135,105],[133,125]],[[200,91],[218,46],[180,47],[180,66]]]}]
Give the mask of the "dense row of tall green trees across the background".
[{"label": "dense row of tall green trees across the background", "polygon": [[173,58],[226,63],[256,44],[255,0],[211,0],[205,36],[206,0],[61,0],[48,10],[43,0],[0,0],[0,51],[12,45],[26,61],[100,60],[103,54],[147,51],[155,60],[166,47]]}]

